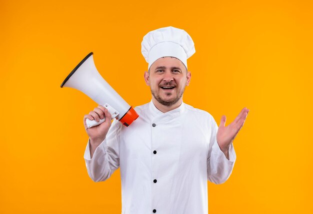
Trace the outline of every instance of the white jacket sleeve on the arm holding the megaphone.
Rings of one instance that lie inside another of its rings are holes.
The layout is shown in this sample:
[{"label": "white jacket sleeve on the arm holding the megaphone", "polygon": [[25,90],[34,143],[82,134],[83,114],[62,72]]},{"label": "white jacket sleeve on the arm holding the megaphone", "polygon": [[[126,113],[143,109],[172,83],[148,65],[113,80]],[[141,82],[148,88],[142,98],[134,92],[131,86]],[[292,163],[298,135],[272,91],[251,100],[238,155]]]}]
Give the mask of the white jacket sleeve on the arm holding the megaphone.
[{"label": "white jacket sleeve on the arm holding the megaphone", "polygon": [[94,182],[104,181],[119,167],[119,132],[121,124],[114,119],[105,139],[96,147],[90,158],[90,139],[88,140],[84,159],[89,177]]}]

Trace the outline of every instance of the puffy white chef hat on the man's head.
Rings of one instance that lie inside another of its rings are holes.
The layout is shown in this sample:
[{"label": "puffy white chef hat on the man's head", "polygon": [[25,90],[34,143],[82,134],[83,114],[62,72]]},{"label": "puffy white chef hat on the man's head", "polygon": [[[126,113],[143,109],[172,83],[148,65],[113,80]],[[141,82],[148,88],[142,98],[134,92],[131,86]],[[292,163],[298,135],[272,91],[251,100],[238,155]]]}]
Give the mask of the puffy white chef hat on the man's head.
[{"label": "puffy white chef hat on the man's head", "polygon": [[187,68],[187,59],[195,53],[195,49],[187,32],[166,27],[150,31],[143,37],[141,53],[148,63],[148,69],[161,57],[175,57]]}]

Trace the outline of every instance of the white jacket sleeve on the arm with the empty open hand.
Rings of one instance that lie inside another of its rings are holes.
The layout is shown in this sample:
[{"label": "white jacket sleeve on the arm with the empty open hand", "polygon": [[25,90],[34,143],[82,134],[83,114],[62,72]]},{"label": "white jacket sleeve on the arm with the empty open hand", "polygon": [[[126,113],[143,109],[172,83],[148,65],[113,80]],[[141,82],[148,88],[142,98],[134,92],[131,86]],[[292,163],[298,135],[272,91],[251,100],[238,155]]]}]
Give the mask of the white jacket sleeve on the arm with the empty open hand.
[{"label": "white jacket sleeve on the arm with the empty open hand", "polygon": [[217,140],[218,126],[214,120],[211,118],[211,136],[209,141],[208,155],[207,155],[207,179],[215,184],[220,184],[225,182],[230,176],[234,162],[236,159],[236,154],[233,145],[229,146],[229,160],[225,157],[224,153],[220,150]]}]

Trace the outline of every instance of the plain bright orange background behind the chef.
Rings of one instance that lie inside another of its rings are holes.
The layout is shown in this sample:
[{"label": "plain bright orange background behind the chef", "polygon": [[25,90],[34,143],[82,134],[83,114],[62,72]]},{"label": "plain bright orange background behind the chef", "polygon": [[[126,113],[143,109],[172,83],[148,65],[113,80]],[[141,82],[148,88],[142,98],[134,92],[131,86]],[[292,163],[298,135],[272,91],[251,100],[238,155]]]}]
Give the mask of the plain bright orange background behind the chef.
[{"label": "plain bright orange background behind the chef", "polygon": [[0,2],[0,213],[120,213],[119,170],[94,183],[85,169],[96,103],[60,84],[92,51],[130,105],[149,102],[140,43],[166,26],[195,43],[185,103],[226,125],[250,109],[209,213],[313,213],[312,2],[114,2]]}]

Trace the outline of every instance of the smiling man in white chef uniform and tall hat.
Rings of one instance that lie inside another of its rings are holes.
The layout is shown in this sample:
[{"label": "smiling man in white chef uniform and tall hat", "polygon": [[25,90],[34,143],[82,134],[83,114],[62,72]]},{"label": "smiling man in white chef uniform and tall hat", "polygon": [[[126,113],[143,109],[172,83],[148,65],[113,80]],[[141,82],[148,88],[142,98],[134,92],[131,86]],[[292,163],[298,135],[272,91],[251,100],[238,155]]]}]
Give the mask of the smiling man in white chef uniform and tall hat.
[{"label": "smiling man in white chef uniform and tall hat", "polygon": [[[129,127],[111,124],[103,106],[84,116],[88,174],[103,181],[120,167],[122,213],[207,213],[207,180],[228,179],[236,158],[232,141],[248,109],[226,127],[222,116],[217,127],[209,113],[182,102],[191,78],[186,60],[195,52],[185,31],[157,29],[141,46],[152,99],[135,108],[139,117]],[[104,117],[104,123],[87,128],[86,118]]]}]

